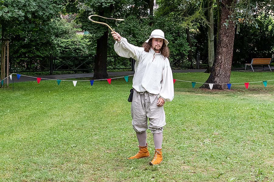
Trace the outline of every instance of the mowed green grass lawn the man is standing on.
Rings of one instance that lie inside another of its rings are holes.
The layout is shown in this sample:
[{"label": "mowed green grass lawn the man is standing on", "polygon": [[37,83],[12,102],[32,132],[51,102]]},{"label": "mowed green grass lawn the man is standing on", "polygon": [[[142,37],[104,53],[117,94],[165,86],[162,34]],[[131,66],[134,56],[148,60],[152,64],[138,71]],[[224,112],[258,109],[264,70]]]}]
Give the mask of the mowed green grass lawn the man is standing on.
[{"label": "mowed green grass lawn the man is standing on", "polygon": [[[205,82],[206,73],[174,73]],[[232,72],[231,83],[274,79]],[[176,81],[166,103],[163,163],[127,160],[138,151],[127,102],[132,77],[41,80],[0,89],[0,181],[274,181],[274,81],[199,89]]]}]

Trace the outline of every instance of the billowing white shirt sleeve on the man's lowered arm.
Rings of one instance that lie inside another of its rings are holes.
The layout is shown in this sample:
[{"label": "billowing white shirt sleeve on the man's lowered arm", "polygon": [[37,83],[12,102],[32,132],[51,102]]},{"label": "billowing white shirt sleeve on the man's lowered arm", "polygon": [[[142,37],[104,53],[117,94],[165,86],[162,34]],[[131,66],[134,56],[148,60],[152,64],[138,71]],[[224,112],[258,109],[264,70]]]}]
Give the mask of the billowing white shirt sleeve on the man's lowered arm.
[{"label": "billowing white shirt sleeve on the man's lowered arm", "polygon": [[[168,60],[167,60],[168,61]],[[161,81],[162,88],[158,95],[158,98],[161,97],[164,101],[170,102],[174,98],[174,84],[173,84],[173,76],[172,71],[169,65],[165,65],[163,69],[163,79]]]}]

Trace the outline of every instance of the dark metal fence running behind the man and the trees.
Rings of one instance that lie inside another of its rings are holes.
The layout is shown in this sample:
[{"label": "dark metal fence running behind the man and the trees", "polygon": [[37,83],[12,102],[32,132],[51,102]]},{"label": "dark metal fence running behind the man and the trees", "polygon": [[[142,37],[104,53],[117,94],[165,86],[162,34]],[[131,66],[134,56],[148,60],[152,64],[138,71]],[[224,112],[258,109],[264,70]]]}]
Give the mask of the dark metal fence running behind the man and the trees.
[{"label": "dark metal fence running behind the man and the trees", "polygon": [[[94,70],[94,56],[37,56],[10,57],[10,72],[50,72],[54,71],[88,71]],[[170,55],[172,69],[199,69],[200,55]],[[135,60],[120,56],[107,56],[107,69],[131,69],[134,71]]]}]

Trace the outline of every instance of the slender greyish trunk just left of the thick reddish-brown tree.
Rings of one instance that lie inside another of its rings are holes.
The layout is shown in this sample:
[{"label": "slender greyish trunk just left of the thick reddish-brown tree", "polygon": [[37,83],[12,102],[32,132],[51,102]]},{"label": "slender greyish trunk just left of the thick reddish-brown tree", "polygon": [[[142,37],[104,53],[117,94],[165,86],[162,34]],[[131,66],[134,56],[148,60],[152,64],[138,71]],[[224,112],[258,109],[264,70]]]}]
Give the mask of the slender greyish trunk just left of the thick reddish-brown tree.
[{"label": "slender greyish trunk just left of the thick reddish-brown tree", "polygon": [[214,61],[214,25],[213,25],[213,0],[208,1],[208,21],[209,26],[207,27],[208,35],[208,72],[211,72],[213,61]]}]

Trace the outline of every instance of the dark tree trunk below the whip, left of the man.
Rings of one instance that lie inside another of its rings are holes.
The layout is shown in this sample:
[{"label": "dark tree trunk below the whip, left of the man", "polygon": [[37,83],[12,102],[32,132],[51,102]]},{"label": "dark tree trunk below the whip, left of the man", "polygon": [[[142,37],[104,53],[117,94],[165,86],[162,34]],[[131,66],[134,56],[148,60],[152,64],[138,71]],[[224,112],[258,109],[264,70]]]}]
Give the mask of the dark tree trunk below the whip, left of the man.
[{"label": "dark tree trunk below the whip, left of the man", "polygon": [[107,74],[107,38],[108,29],[99,39],[97,39],[96,58],[94,64],[93,79],[106,79]]}]

